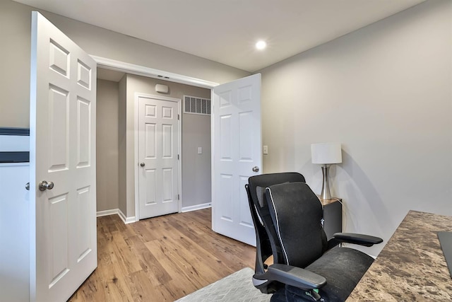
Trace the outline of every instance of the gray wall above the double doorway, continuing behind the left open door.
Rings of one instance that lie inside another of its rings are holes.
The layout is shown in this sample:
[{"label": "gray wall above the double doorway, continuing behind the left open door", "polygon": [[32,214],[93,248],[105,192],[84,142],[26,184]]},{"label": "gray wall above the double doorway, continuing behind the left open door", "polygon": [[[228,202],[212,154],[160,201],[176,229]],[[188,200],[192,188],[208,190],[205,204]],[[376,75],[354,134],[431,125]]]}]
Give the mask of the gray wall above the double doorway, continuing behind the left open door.
[{"label": "gray wall above the double doorway, continuing behind the left open door", "polygon": [[[29,127],[30,6],[0,1],[0,127]],[[40,11],[40,10],[38,10]],[[88,54],[224,83],[249,73],[93,25],[41,11]]]}]

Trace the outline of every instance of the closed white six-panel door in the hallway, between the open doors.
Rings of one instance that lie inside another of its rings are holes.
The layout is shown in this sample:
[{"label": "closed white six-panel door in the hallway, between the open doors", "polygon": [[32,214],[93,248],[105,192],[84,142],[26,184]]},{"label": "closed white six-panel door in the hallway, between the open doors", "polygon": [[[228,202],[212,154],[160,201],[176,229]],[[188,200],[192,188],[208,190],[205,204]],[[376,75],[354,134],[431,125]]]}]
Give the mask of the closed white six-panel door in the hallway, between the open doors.
[{"label": "closed white six-panel door in the hallway, between the open doors", "polygon": [[179,211],[179,99],[137,95],[139,219]]}]

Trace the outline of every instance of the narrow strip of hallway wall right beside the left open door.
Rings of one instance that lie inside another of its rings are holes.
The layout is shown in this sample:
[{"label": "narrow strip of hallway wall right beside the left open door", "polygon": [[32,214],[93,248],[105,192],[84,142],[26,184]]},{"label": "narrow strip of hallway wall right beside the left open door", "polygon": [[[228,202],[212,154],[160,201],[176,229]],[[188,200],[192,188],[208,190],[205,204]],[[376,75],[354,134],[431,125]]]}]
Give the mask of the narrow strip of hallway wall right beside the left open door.
[{"label": "narrow strip of hallway wall right beside the left open door", "polygon": [[97,80],[97,211],[119,208],[119,85]]}]

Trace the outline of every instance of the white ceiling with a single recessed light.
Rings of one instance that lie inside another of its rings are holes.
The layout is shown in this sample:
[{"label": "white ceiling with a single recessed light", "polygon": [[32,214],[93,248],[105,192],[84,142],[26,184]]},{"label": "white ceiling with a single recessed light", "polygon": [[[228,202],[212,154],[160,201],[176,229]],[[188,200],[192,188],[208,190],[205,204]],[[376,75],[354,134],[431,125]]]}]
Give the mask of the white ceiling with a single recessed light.
[{"label": "white ceiling with a single recessed light", "polygon": [[424,0],[14,1],[254,72]]}]

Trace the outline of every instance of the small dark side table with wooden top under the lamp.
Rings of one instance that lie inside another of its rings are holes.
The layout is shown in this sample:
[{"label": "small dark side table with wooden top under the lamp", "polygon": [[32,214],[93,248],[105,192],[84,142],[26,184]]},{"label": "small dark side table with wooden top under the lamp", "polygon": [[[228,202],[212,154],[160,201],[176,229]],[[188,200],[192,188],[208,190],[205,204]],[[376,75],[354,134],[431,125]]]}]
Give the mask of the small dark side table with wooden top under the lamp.
[{"label": "small dark side table with wooden top under the lamp", "polygon": [[323,207],[323,230],[329,240],[334,233],[342,232],[342,199],[338,197],[321,199],[319,195],[317,197]]}]

